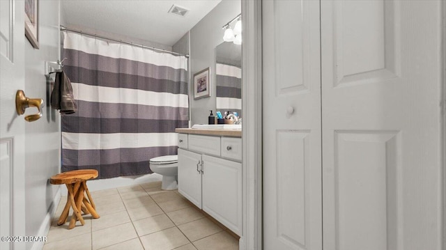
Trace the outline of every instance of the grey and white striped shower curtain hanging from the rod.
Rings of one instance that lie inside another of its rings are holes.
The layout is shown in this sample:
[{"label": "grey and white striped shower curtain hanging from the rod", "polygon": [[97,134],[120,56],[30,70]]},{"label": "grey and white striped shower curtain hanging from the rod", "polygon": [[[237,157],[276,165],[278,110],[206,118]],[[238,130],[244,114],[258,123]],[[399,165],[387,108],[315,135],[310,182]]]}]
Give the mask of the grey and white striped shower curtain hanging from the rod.
[{"label": "grey and white striped shower curtain hanging from the rod", "polygon": [[77,100],[62,116],[62,169],[99,178],[152,173],[148,161],[176,155],[187,127],[187,58],[66,32],[63,70]]}]

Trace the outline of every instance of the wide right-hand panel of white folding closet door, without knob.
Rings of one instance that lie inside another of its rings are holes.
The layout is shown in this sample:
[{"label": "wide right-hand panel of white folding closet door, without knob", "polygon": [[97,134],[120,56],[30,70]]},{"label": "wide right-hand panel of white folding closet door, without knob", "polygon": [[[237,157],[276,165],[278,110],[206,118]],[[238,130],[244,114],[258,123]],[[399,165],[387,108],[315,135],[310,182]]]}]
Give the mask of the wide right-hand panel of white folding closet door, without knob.
[{"label": "wide right-hand panel of white folding closet door, without knob", "polygon": [[440,250],[440,9],[321,1],[326,250]]}]

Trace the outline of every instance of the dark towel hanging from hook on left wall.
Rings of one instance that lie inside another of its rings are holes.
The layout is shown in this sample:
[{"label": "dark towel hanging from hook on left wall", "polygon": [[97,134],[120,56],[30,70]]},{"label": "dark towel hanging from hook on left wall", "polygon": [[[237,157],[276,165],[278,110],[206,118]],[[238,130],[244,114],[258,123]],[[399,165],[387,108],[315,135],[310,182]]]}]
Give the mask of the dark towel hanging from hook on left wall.
[{"label": "dark towel hanging from hook on left wall", "polygon": [[54,88],[51,93],[51,107],[60,109],[61,114],[73,114],[77,111],[75,97],[72,95],[71,81],[65,72],[56,72]]}]

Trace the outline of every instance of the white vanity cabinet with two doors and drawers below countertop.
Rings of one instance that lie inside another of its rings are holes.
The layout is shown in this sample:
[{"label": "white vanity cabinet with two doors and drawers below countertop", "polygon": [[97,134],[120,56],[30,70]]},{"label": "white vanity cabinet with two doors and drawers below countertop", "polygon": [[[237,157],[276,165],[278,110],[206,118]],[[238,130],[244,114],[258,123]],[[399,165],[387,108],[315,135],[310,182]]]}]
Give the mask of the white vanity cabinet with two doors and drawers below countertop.
[{"label": "white vanity cabinet with two doors and drawers below countertop", "polygon": [[241,138],[189,134],[187,141],[178,149],[178,192],[241,235]]}]

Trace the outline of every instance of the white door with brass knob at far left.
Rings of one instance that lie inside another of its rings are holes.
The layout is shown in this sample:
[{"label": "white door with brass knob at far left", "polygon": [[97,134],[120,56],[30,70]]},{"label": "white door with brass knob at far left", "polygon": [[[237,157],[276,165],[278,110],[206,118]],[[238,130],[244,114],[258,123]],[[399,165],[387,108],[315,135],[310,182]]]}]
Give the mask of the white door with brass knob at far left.
[{"label": "white door with brass knob at far left", "polygon": [[[0,249],[25,249],[24,118],[15,94],[24,90],[24,1],[0,1]],[[22,239],[23,240],[23,239]]]}]

